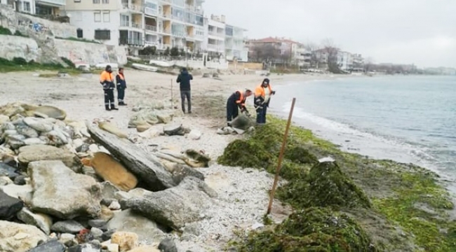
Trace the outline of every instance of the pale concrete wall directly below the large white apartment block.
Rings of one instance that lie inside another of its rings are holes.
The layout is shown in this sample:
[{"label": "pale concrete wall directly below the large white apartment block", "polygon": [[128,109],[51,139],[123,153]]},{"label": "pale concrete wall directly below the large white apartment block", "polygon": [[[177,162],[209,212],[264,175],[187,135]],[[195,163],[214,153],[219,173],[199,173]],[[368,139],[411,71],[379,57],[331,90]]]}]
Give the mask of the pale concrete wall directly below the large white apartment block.
[{"label": "pale concrete wall directly below the large white apartment block", "polygon": [[126,48],[96,43],[68,41],[55,39],[55,49],[58,57],[66,57],[75,63],[95,65],[99,63],[114,62],[126,64]]}]

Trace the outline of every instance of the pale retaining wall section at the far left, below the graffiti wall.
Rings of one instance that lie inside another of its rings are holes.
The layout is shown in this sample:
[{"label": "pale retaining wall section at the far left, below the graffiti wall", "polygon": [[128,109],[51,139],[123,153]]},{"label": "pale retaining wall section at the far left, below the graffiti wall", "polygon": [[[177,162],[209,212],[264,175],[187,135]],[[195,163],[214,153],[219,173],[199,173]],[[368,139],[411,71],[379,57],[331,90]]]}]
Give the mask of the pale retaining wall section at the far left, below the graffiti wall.
[{"label": "pale retaining wall section at the far left, below the graffiti wall", "polygon": [[22,57],[27,61],[38,61],[41,55],[41,49],[32,38],[22,36],[0,35],[0,57],[5,59],[13,59],[14,57]]}]

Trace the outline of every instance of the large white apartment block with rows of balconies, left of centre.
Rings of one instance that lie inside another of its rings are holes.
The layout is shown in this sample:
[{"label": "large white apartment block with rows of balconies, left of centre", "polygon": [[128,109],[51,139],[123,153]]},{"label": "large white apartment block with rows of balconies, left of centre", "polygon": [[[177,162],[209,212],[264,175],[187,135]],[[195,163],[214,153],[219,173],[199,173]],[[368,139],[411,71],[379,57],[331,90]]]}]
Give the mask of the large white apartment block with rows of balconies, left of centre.
[{"label": "large white apartment block with rows of balconies, left of centre", "polygon": [[157,50],[203,50],[203,0],[67,0],[65,13],[78,37],[107,45]]}]

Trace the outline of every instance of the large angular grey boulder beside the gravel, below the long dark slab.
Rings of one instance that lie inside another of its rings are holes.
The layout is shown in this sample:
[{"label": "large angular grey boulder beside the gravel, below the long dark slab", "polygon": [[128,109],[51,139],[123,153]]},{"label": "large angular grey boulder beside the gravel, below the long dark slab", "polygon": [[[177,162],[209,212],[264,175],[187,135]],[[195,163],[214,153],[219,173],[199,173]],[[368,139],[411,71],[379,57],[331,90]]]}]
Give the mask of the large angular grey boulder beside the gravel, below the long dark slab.
[{"label": "large angular grey boulder beside the gravel, below the long dark slab", "polygon": [[133,197],[126,205],[143,216],[176,230],[201,220],[201,213],[214,204],[210,197],[217,193],[193,176],[186,177],[179,186],[143,197]]}]

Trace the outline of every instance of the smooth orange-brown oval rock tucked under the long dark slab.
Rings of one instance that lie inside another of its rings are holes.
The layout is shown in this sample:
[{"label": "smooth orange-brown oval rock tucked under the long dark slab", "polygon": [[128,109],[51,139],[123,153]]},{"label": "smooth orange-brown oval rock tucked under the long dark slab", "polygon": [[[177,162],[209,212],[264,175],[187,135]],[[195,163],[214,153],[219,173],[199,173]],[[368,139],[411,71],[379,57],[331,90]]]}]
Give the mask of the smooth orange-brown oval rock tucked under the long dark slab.
[{"label": "smooth orange-brown oval rock tucked under the long dark slab", "polygon": [[102,177],[105,181],[110,181],[121,190],[131,190],[138,184],[138,179],[135,175],[117,162],[111,155],[98,152],[95,153],[90,165],[95,169],[96,174]]}]

